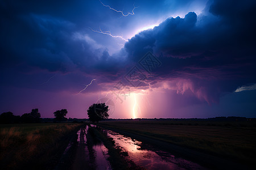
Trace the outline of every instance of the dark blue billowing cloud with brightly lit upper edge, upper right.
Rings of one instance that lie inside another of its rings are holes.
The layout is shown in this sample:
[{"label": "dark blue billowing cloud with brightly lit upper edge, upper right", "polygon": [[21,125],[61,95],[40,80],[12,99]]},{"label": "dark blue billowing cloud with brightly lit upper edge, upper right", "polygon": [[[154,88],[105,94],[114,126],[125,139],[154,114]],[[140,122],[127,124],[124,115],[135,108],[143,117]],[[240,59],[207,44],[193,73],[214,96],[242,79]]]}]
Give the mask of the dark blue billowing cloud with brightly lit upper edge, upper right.
[{"label": "dark blue billowing cloud with brightly lit upper edge, upper right", "polygon": [[[158,27],[135,35],[125,48],[130,56],[139,56],[142,49],[154,49],[165,56],[187,58],[207,50],[253,46],[255,2],[247,8],[234,3],[214,1],[209,5],[213,15],[189,12],[185,18],[168,18]],[[227,9],[228,14],[222,14],[219,8]]]}]

